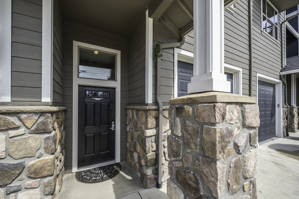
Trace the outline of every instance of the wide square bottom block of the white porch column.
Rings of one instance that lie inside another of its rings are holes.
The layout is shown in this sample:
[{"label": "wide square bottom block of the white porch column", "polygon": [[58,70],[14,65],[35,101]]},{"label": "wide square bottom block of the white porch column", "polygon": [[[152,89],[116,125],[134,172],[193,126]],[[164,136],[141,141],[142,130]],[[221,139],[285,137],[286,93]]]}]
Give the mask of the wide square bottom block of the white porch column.
[{"label": "wide square bottom block of the white porch column", "polygon": [[191,81],[191,83],[188,84],[188,93],[208,91],[231,92],[231,82],[223,79],[210,78],[200,81]]}]

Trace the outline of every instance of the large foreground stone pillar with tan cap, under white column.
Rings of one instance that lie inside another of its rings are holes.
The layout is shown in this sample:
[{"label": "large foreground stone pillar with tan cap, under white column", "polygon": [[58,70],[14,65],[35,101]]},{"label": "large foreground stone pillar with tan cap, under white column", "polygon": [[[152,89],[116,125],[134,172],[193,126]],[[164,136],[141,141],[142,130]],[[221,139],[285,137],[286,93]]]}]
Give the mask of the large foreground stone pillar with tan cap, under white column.
[{"label": "large foreground stone pillar with tan cap, under white column", "polygon": [[168,198],[257,198],[256,98],[205,92],[170,104]]}]

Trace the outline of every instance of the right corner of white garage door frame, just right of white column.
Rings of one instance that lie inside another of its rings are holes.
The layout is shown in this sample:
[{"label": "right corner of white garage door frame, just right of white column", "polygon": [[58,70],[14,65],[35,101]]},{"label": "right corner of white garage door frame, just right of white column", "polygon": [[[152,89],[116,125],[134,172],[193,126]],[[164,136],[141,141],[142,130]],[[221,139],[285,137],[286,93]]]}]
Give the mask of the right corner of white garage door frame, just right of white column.
[{"label": "right corner of white garage door frame, just right of white column", "polygon": [[233,74],[233,93],[242,95],[242,68],[224,63],[224,72]]}]

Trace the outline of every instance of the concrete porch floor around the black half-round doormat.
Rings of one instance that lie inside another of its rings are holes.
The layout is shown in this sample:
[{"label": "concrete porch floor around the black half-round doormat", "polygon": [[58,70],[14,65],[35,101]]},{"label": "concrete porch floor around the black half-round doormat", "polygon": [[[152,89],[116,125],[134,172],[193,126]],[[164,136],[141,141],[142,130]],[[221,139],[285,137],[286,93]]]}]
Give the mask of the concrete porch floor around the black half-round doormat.
[{"label": "concrete porch floor around the black half-round doormat", "polygon": [[119,174],[101,183],[85,184],[76,180],[75,173],[65,174],[59,198],[167,199],[166,183],[163,183],[162,189],[145,189],[129,164],[126,162],[120,164],[122,169]]}]

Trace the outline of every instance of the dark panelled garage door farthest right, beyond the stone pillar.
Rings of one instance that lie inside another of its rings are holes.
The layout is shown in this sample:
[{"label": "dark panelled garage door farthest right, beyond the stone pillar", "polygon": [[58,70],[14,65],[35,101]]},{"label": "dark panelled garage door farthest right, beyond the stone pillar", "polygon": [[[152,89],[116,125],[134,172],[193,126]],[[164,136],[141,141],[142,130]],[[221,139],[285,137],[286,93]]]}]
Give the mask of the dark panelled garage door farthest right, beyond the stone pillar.
[{"label": "dark panelled garage door farthest right, beyond the stone pillar", "polygon": [[258,81],[259,142],[275,137],[275,84]]}]

